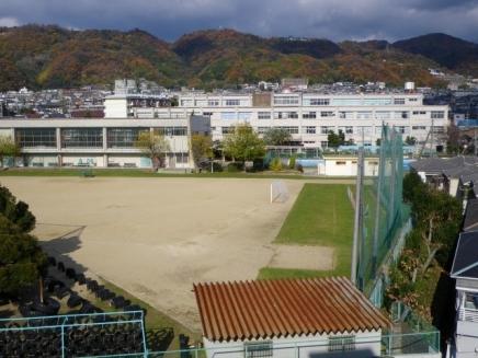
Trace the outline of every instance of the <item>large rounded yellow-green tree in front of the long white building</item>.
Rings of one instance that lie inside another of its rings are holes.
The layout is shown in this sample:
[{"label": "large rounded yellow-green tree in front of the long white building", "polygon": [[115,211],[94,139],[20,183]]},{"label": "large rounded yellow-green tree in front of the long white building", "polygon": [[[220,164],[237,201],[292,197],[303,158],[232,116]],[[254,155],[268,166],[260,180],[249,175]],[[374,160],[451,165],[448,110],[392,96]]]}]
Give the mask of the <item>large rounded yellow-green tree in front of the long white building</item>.
[{"label": "large rounded yellow-green tree in front of the long white building", "polygon": [[[238,125],[224,140],[224,151],[234,160],[251,161],[265,154],[264,141],[248,124]],[[244,165],[246,170],[246,165]]]}]

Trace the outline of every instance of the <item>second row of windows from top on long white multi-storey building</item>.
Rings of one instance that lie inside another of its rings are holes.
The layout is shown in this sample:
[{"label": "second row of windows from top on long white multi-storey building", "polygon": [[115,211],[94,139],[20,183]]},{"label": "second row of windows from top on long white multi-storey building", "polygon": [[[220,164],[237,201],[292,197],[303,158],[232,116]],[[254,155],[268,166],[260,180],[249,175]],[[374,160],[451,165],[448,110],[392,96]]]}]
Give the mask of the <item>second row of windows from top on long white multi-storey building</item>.
[{"label": "second row of windows from top on long white multi-storey building", "polygon": [[[212,116],[213,112],[204,112],[203,115]],[[320,112],[303,112],[303,119],[316,119],[316,118],[331,118],[337,117],[340,119],[408,119],[413,117],[424,117],[428,115],[426,111],[361,111],[361,112],[348,112],[348,111],[339,111],[338,113],[333,111],[320,111]],[[298,119],[299,113],[296,111],[274,111],[274,112],[258,112],[258,119]],[[249,120],[253,118],[252,112],[221,112],[220,119],[239,119],[239,120]],[[444,111],[431,111],[430,118],[433,119],[443,119],[445,118]]]}]

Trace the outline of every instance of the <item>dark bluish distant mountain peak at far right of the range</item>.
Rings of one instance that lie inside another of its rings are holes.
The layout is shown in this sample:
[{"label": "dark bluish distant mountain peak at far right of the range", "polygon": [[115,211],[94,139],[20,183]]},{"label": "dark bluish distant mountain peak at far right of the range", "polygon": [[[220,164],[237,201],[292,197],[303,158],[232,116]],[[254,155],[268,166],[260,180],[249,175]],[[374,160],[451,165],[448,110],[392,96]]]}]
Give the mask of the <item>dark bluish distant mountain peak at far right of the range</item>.
[{"label": "dark bluish distant mountain peak at far right of the range", "polygon": [[464,74],[478,74],[478,45],[446,34],[429,34],[392,44],[395,48],[422,55]]}]

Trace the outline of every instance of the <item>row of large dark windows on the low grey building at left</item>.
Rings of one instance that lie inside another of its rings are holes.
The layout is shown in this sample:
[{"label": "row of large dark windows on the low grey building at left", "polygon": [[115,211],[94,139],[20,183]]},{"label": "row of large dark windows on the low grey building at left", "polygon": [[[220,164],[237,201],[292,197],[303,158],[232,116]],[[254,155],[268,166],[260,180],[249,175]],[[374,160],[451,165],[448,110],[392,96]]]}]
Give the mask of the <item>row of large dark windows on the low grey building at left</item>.
[{"label": "row of large dark windows on the low grey building at left", "polygon": [[[187,127],[159,127],[153,128],[164,136],[186,136]],[[107,148],[133,148],[143,131],[149,128],[107,128]],[[56,128],[18,128],[15,140],[22,148],[56,148]],[[61,148],[102,148],[103,128],[61,128]]]}]

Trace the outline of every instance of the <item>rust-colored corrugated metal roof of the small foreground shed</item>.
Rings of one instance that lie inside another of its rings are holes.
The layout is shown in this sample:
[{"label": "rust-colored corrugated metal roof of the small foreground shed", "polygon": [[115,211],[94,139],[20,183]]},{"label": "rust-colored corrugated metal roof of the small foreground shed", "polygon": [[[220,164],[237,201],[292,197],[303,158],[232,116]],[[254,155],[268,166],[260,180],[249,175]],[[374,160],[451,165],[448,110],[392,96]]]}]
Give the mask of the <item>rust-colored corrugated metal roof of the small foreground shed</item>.
[{"label": "rust-colored corrugated metal roof of the small foreground shed", "polygon": [[194,285],[209,340],[372,331],[389,321],[344,277]]}]

